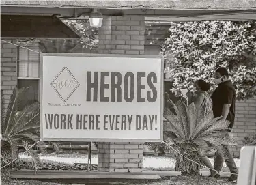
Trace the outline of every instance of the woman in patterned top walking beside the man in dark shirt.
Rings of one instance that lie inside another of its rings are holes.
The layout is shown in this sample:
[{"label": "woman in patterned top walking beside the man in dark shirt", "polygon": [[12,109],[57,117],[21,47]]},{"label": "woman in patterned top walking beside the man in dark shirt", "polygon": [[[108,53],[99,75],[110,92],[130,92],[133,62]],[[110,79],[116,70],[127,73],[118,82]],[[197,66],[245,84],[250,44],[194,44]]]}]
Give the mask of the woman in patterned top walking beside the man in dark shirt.
[{"label": "woman in patterned top walking beside the man in dark shirt", "polygon": [[[204,80],[198,80],[195,82],[194,93],[192,95],[192,102],[194,102],[197,112],[199,116],[205,117],[205,115],[208,115],[210,111],[212,111],[212,99],[210,96],[208,96],[207,91],[210,89],[210,84],[207,83]],[[207,147],[207,146],[206,146]],[[205,154],[206,152],[202,152],[201,154],[201,160],[205,164],[206,167],[211,172],[210,177],[218,178],[220,177],[220,174],[217,171],[214,171],[214,167],[212,166],[210,160]]]}]

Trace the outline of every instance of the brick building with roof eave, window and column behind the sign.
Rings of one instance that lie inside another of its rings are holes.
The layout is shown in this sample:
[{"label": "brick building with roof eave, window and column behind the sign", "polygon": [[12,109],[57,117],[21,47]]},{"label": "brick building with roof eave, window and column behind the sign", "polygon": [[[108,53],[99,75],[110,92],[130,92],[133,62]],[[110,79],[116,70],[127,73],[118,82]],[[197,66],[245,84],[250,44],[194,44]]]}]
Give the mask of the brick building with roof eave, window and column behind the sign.
[{"label": "brick building with roof eave, window and column behind the sign", "polygon": [[[100,8],[104,15],[99,32],[99,51],[104,54],[143,55],[158,53],[157,44],[154,46],[146,40],[145,20],[165,16],[165,20],[246,20],[255,18],[255,1],[1,1],[2,15],[20,15],[20,21],[31,21],[31,27],[10,27],[8,22],[1,25],[1,37],[8,42],[15,42],[16,38],[74,38],[68,30],[60,30],[60,25],[42,30],[33,26],[37,22],[33,18],[40,16],[69,16],[91,12],[91,8]],[[99,7],[100,3],[100,7]],[[238,8],[240,8],[238,10]],[[223,13],[223,11],[225,13]],[[212,14],[214,13],[214,16]],[[29,15],[29,19],[23,16]],[[32,15],[32,16],[31,16]],[[120,16],[121,15],[121,16]],[[234,16],[235,15],[235,16]],[[2,18],[2,16],[1,16]],[[159,18],[158,18],[159,20]],[[20,23],[17,22],[18,23]],[[34,21],[34,22],[33,22]],[[2,21],[1,21],[2,22]],[[12,29],[12,31],[10,31]],[[25,29],[25,30],[20,30]],[[44,28],[45,29],[45,28]],[[65,29],[65,28],[63,28]],[[9,30],[9,31],[8,31]],[[55,30],[55,31],[53,31]],[[35,34],[37,33],[37,34]],[[51,35],[51,33],[55,33]],[[65,33],[66,35],[59,35]],[[24,34],[24,35],[23,35]],[[147,48],[147,49],[145,49]],[[38,50],[38,48],[32,48]],[[150,51],[151,50],[151,51]],[[154,53],[153,53],[154,51]],[[30,85],[34,91],[31,96],[40,94],[38,82],[39,55],[12,44],[1,42],[1,89],[5,95],[5,104],[10,100],[12,89]],[[242,139],[248,133],[256,132],[256,98],[237,103],[237,117],[233,134]],[[99,143],[98,170],[113,172],[142,171],[143,143]],[[240,148],[234,151],[238,156]]]}]

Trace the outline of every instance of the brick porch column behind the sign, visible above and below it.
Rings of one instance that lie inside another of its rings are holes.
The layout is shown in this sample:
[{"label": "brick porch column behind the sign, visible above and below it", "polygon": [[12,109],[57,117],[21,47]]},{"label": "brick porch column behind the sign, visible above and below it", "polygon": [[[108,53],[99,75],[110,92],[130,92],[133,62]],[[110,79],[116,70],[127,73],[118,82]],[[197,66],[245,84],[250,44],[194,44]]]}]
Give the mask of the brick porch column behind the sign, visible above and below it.
[{"label": "brick porch column behind the sign, visible above and below it", "polygon": [[[99,53],[144,54],[143,16],[104,17],[99,31]],[[98,171],[141,172],[143,143],[98,143]]]}]

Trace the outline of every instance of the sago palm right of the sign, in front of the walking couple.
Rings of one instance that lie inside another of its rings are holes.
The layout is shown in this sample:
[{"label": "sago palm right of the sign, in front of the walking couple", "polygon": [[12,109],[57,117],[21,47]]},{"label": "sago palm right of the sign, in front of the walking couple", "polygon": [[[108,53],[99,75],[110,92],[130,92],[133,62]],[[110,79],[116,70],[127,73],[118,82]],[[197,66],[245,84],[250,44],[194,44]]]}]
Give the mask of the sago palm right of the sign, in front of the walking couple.
[{"label": "sago palm right of the sign, in front of the walking couple", "polygon": [[[167,120],[164,124],[165,141],[172,145],[182,155],[197,163],[191,162],[180,154],[175,154],[175,170],[182,173],[199,173],[203,165],[200,156],[209,150],[218,150],[224,158],[227,156],[223,145],[236,146],[236,140],[228,134],[229,122],[214,118],[212,112],[201,116],[195,104],[186,106],[184,102],[174,104],[168,100],[169,105],[165,106],[164,117]],[[173,107],[175,113],[170,110]],[[199,165],[200,164],[200,165]]]}]

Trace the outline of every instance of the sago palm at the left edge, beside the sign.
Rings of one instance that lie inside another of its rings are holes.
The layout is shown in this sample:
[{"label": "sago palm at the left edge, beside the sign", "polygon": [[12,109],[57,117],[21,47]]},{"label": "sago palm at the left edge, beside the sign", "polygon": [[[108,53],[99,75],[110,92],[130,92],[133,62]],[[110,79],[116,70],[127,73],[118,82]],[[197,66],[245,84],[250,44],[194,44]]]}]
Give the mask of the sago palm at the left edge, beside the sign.
[{"label": "sago palm at the left edge, beside the sign", "polygon": [[[19,144],[23,144],[27,150],[28,142],[38,142],[40,137],[40,111],[39,103],[35,100],[24,102],[26,98],[25,88],[13,90],[10,97],[10,102],[5,109],[4,97],[1,91],[1,168],[7,165],[12,160],[18,158]],[[23,107],[18,111],[18,107]],[[42,142],[40,141],[38,147],[44,150]],[[40,164],[38,154],[32,150],[27,151],[33,158],[35,169]],[[10,177],[11,165],[1,169],[2,178],[8,179]]]}]

